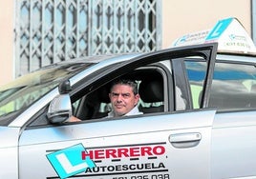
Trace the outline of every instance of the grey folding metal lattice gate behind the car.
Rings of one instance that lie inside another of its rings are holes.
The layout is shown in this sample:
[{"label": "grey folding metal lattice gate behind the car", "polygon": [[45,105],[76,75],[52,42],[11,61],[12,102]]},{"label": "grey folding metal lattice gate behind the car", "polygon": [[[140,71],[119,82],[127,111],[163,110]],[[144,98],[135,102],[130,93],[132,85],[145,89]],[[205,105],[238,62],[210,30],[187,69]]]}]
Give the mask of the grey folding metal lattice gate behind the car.
[{"label": "grey folding metal lattice gate behind the car", "polygon": [[160,0],[17,0],[16,76],[96,54],[160,50]]}]

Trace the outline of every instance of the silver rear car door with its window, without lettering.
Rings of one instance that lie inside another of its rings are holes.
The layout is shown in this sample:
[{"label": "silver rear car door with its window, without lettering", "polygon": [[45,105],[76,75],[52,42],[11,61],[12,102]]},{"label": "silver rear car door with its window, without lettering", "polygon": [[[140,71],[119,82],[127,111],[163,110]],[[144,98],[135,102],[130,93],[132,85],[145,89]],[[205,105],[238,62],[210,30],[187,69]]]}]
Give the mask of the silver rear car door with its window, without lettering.
[{"label": "silver rear car door with its window, without lettering", "polygon": [[212,129],[212,177],[255,178],[255,57],[218,59],[209,101],[218,108]]}]

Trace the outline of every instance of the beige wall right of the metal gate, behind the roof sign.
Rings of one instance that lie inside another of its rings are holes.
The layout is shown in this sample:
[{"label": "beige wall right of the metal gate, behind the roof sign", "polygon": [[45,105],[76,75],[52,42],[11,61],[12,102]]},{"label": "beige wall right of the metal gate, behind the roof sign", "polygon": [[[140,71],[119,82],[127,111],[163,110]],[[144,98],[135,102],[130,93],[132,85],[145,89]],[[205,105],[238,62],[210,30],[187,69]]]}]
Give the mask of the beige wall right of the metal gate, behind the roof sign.
[{"label": "beige wall right of the metal gate, behind the roof sign", "polygon": [[162,0],[162,48],[183,34],[211,29],[227,17],[237,17],[250,34],[250,0]]}]

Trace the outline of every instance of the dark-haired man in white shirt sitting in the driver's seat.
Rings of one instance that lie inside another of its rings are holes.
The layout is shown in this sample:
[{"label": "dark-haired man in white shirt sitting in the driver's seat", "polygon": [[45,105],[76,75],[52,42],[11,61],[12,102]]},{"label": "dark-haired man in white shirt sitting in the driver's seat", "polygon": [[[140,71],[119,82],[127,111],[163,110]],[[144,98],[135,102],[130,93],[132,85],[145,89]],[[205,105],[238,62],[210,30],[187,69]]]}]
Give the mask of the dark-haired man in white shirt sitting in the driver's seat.
[{"label": "dark-haired man in white shirt sitting in the driver's seat", "polygon": [[[112,111],[107,117],[118,117],[143,114],[138,109],[139,92],[138,84],[132,80],[118,79],[110,89],[109,98],[112,105]],[[68,122],[77,122],[80,119],[72,116]]]}]

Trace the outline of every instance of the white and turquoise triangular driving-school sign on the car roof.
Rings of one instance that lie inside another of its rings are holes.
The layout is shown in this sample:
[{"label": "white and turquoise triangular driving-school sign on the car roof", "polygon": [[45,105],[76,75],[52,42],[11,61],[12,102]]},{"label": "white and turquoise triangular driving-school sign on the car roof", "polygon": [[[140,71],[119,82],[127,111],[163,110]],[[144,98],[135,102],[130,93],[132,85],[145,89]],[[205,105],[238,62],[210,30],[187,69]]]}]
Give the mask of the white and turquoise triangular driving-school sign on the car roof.
[{"label": "white and turquoise triangular driving-school sign on the car roof", "polygon": [[178,38],[172,47],[218,42],[219,52],[256,53],[255,45],[237,18],[217,22],[211,30],[189,33]]}]

